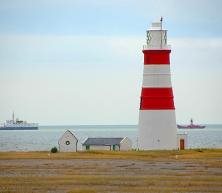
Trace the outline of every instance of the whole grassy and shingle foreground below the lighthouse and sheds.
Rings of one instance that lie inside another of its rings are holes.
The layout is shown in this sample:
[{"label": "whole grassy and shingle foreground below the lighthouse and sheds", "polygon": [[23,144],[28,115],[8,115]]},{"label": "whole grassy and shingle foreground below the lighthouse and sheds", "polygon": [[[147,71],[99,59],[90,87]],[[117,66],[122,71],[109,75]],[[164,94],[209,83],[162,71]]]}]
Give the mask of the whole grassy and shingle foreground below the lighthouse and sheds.
[{"label": "whole grassy and shingle foreground below the lighthouse and sheds", "polygon": [[1,193],[222,191],[222,149],[0,152]]}]

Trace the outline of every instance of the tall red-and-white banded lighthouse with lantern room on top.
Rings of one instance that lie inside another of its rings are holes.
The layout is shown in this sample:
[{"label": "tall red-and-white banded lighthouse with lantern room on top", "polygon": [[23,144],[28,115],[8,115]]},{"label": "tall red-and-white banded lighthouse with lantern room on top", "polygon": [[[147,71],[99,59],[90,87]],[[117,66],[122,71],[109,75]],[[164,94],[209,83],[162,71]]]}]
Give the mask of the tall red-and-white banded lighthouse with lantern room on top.
[{"label": "tall red-and-white banded lighthouse with lantern room on top", "polygon": [[139,111],[139,149],[176,149],[177,127],[171,85],[167,30],[152,23],[143,46],[144,69]]}]

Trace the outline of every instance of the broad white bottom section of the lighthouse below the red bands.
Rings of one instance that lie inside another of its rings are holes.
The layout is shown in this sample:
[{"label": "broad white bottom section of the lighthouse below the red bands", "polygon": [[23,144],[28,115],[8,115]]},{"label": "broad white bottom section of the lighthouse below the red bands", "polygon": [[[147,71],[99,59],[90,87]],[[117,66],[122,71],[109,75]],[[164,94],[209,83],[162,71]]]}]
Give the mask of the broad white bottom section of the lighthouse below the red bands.
[{"label": "broad white bottom section of the lighthouse below the red bands", "polygon": [[139,149],[177,149],[177,127],[174,110],[140,110]]}]

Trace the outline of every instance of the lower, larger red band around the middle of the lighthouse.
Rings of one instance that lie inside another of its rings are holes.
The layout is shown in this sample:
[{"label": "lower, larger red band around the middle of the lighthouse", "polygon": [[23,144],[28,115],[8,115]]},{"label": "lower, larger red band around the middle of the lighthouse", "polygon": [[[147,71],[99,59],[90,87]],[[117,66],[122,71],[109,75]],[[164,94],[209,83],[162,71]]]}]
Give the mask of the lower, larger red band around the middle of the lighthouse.
[{"label": "lower, larger red band around the middle of the lighthouse", "polygon": [[172,88],[142,88],[140,110],[175,109]]}]

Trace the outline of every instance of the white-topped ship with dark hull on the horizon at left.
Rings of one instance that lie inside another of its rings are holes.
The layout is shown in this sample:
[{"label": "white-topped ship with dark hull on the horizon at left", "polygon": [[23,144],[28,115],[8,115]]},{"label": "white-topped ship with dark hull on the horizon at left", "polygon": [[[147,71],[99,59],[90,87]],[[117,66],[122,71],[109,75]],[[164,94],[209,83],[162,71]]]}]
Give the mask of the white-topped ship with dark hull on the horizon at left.
[{"label": "white-topped ship with dark hull on the horizon at left", "polygon": [[14,118],[12,114],[11,120],[6,120],[5,123],[0,125],[0,130],[38,130],[38,123],[28,123],[26,121]]}]

